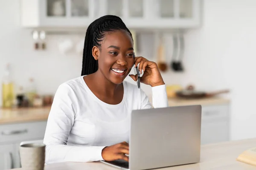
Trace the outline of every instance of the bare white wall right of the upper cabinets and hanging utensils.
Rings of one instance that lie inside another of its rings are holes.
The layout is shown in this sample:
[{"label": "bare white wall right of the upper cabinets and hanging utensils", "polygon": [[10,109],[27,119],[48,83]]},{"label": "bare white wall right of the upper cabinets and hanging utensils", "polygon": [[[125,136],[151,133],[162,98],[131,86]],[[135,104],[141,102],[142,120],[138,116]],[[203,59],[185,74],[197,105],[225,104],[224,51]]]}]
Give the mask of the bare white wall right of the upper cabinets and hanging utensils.
[{"label": "bare white wall right of the upper cabinets and hanging utensils", "polygon": [[205,0],[203,27],[186,35],[182,79],[230,87],[232,139],[256,137],[255,9],[255,0]]}]

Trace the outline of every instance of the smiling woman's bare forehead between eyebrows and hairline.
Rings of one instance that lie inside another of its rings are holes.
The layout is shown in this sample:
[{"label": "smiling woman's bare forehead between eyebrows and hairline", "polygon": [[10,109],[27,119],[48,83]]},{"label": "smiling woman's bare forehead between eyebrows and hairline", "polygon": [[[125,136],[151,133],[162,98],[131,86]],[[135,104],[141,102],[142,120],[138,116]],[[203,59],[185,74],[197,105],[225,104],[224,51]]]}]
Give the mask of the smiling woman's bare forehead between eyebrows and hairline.
[{"label": "smiling woman's bare forehead between eyebrows and hairline", "polygon": [[133,47],[133,41],[131,36],[127,31],[124,30],[117,30],[117,31],[108,31],[105,34],[105,38],[102,41],[101,46],[110,46],[115,45],[120,48],[125,46],[125,48]]}]

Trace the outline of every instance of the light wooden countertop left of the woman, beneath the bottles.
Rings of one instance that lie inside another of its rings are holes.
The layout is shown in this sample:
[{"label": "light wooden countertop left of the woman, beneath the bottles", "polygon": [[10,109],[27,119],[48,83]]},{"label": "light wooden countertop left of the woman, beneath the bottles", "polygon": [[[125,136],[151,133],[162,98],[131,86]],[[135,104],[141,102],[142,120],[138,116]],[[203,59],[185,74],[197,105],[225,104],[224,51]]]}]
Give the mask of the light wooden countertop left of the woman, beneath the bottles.
[{"label": "light wooden countertop left of the woman, beneath the bottles", "polygon": [[0,109],[0,125],[8,123],[46,121],[50,107]]}]

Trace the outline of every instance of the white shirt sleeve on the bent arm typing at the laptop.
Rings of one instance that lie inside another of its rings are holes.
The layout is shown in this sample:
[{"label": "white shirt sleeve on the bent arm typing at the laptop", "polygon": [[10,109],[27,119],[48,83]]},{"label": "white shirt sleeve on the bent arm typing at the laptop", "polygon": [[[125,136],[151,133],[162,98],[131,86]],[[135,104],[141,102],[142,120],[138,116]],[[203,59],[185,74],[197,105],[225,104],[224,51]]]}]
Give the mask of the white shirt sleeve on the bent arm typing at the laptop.
[{"label": "white shirt sleeve on the bent arm typing at the laptop", "polygon": [[90,162],[103,160],[102,149],[105,146],[67,145],[67,139],[76,118],[76,107],[74,105],[76,100],[76,94],[68,84],[59,86],[54,96],[44,135],[46,164],[64,161]]}]

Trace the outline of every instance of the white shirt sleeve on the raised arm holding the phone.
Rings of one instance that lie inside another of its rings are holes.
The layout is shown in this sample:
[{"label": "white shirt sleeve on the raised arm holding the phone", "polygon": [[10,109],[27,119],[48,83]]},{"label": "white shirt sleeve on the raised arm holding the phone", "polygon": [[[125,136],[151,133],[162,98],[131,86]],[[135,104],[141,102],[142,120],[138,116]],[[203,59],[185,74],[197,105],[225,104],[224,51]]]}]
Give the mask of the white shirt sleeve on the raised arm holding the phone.
[{"label": "white shirt sleeve on the raised arm holding the phone", "polygon": [[158,85],[152,87],[152,105],[149,102],[148,96],[141,90],[141,108],[166,108],[168,107],[168,99],[166,93],[166,85]]}]

